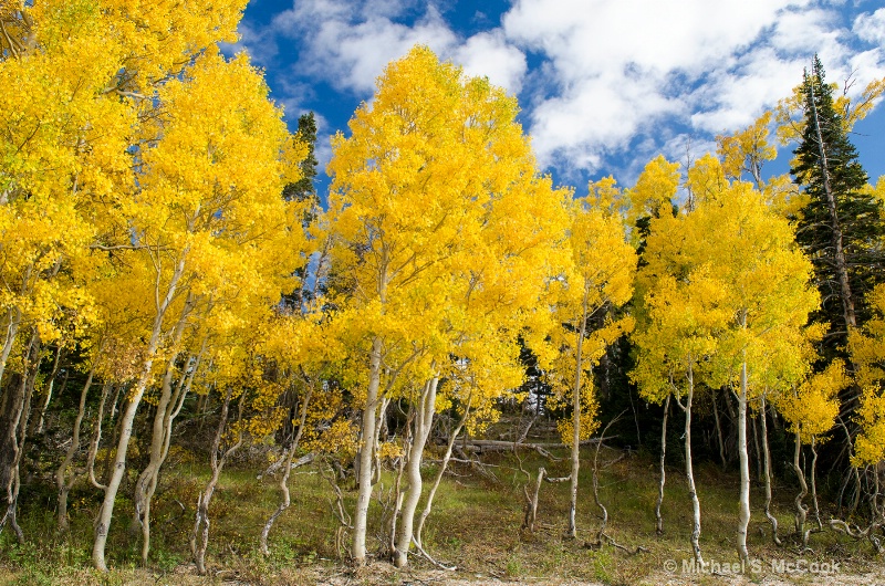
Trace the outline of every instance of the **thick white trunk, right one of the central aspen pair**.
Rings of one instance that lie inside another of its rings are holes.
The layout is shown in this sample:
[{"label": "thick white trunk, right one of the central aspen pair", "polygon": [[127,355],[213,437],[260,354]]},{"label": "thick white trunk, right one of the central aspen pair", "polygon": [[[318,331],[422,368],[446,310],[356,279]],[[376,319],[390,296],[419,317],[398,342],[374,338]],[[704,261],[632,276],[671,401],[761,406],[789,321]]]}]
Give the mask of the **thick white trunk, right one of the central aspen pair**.
[{"label": "thick white trunk, right one of the central aspen pair", "polygon": [[406,464],[408,491],[406,492],[406,498],[403,503],[400,516],[402,525],[396,542],[395,564],[396,567],[399,568],[408,564],[408,550],[412,545],[415,511],[418,509],[418,501],[421,496],[421,457],[434,422],[436,389],[438,385],[439,378],[437,377],[427,381],[425,391],[421,394],[420,401],[418,402],[418,412],[415,417],[415,435],[413,436],[412,449],[409,450],[408,463]]}]

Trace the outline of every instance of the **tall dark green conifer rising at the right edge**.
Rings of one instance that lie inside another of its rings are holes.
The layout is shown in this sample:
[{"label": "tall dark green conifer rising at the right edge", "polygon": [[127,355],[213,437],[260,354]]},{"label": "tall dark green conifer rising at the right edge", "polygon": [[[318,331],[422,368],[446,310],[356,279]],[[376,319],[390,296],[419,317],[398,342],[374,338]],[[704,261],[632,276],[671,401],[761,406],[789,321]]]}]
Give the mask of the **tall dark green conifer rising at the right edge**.
[{"label": "tall dark green conifer rising at the right edge", "polygon": [[832,94],[815,55],[803,77],[804,127],[790,174],[809,197],[796,240],[814,263],[822,297],[814,318],[831,324],[831,355],[844,348],[848,329],[865,321],[863,297],[882,280],[876,268],[883,233],[881,205],[864,190],[867,176]]}]

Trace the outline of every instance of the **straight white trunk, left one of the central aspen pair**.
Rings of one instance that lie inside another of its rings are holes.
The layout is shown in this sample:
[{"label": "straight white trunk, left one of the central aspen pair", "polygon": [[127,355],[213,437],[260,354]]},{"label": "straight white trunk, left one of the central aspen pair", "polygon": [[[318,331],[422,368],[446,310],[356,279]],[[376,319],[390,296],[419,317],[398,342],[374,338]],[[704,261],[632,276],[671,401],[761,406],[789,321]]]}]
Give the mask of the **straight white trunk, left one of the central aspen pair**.
[{"label": "straight white trunk, left one of the central aspen pair", "polygon": [[366,389],[366,404],[363,407],[363,421],[361,425],[363,446],[360,449],[360,471],[357,474],[358,492],[356,507],[353,515],[353,545],[351,556],[354,564],[364,566],[366,563],[366,521],[368,517],[368,503],[372,500],[372,464],[375,452],[375,428],[377,425],[378,388],[381,386],[381,353],[382,341],[375,337],[372,341],[369,355],[368,387]]}]

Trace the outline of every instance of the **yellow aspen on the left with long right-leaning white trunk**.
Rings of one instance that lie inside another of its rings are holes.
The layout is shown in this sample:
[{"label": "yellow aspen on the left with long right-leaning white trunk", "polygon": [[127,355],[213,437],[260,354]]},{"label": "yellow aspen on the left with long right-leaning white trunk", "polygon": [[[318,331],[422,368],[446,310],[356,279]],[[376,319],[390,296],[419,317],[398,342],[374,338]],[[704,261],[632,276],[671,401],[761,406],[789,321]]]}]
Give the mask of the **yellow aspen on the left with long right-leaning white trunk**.
[{"label": "yellow aspen on the left with long right-leaning white trunk", "polygon": [[[231,87],[237,92],[230,94]],[[274,303],[298,262],[287,251],[300,248],[287,230],[296,221],[295,207],[280,193],[301,150],[248,61],[206,53],[181,80],[164,85],[158,100],[167,113],[155,121],[163,138],[142,153],[138,198],[124,206],[138,234],[128,251],[132,266],[142,268],[142,289],[154,289],[155,311],[96,522],[93,559],[100,569],[132,421],[162,345],[175,353],[185,329],[210,315],[204,308],[212,295]],[[243,318],[231,311],[216,316],[221,324]]]}]

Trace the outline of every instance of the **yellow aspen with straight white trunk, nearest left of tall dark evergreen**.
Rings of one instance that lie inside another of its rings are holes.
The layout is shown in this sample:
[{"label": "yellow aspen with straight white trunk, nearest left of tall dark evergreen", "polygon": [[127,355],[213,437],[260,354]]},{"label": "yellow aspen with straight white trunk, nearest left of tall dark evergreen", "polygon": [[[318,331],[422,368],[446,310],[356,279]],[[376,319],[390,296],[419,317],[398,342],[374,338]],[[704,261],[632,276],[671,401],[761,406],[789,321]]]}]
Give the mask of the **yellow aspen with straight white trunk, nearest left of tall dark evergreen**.
[{"label": "yellow aspen with straight white trunk, nearest left of tall dark evergreen", "polygon": [[[738,453],[741,489],[738,554],[749,559],[750,471],[747,452],[747,408],[763,386],[767,345],[801,328],[820,297],[811,289],[810,261],[795,248],[787,220],[768,208],[749,184],[736,182],[689,216],[697,227],[691,254],[720,280],[730,311],[728,329],[719,336],[712,386],[731,386],[738,402]],[[715,227],[715,229],[714,229]]]}]

